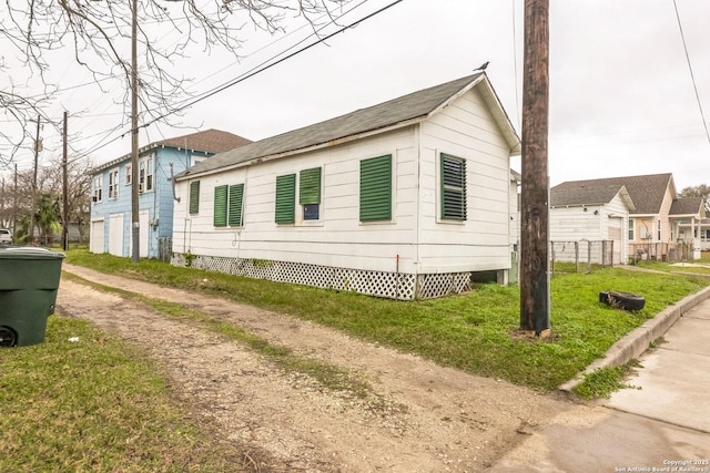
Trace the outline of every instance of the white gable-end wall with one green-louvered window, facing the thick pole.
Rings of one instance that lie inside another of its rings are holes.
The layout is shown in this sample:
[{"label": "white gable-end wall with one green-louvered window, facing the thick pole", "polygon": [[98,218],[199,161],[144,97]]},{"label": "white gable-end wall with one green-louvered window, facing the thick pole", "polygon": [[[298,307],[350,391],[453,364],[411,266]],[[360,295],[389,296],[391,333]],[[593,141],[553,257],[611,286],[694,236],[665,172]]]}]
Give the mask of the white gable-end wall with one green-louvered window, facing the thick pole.
[{"label": "white gable-end wall with one green-louvered window, facing the thick pole", "polygon": [[[478,91],[468,91],[423,122],[420,145],[419,271],[509,268],[510,150]],[[466,160],[464,222],[440,219],[442,153]]]}]

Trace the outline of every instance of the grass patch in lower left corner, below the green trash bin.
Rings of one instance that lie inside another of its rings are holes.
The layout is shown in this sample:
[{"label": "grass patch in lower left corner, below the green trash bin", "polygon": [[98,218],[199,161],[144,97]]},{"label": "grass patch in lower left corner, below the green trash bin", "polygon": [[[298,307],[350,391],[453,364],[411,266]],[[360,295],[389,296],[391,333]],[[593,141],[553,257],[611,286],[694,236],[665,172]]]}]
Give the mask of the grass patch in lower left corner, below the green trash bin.
[{"label": "grass patch in lower left corner, below the green trash bin", "polygon": [[243,459],[189,419],[145,359],[59,316],[43,343],[0,350],[0,471],[233,471]]}]

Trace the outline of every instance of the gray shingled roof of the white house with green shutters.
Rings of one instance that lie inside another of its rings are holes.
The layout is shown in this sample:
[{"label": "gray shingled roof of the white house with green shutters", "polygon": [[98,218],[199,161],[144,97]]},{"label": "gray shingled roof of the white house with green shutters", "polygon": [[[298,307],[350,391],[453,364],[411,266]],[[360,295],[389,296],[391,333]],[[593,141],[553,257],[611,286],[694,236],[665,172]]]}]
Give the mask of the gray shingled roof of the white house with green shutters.
[{"label": "gray shingled roof of the white house with green shutters", "polygon": [[[481,75],[487,81],[487,78],[483,73],[468,75],[378,105],[361,109],[325,122],[264,138],[225,153],[220,153],[209,160],[204,160],[190,171],[181,173],[175,177],[186,178],[196,174],[229,168],[253,160],[278,157],[286,153],[312,148],[332,143],[336,140],[357,136],[363,133],[374,132],[409,121],[423,120],[428,116],[429,113],[444,105],[449,99],[471,86]],[[493,89],[490,90],[493,91]],[[495,93],[491,93],[490,97],[497,101]],[[500,111],[503,115],[498,116],[498,120],[505,119],[508,121],[501,107]],[[515,142],[515,144],[511,143],[511,148],[517,150],[519,147],[519,140],[517,135],[515,135],[511,126],[510,136],[507,136],[508,141]]]}]

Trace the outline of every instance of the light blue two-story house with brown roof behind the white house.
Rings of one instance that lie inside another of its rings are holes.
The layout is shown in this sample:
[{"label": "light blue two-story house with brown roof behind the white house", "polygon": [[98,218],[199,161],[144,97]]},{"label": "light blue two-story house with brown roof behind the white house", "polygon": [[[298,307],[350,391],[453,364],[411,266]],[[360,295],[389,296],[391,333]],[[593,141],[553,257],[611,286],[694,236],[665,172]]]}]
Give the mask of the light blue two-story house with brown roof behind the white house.
[{"label": "light blue two-story house with brown roof behind the white house", "polygon": [[[159,257],[159,241],[169,243],[172,236],[174,199],[171,173],[181,173],[214,153],[247,143],[251,142],[232,133],[207,130],[151,143],[139,150],[141,257]],[[95,167],[91,176],[89,249],[131,256],[131,155]]]}]

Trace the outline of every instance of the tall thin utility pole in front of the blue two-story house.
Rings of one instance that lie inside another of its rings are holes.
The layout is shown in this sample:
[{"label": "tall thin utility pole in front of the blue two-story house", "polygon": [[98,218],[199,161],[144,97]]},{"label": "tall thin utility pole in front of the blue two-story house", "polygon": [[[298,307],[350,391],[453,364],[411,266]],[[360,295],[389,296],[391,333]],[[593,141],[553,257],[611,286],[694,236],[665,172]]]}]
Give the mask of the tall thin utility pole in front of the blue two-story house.
[{"label": "tall thin utility pole in front of the blue two-story house", "polygon": [[141,228],[139,219],[138,172],[138,0],[133,0],[131,24],[131,236],[133,263],[141,260]]}]

